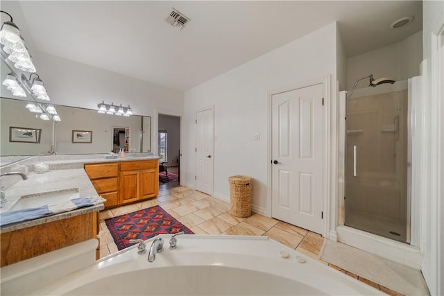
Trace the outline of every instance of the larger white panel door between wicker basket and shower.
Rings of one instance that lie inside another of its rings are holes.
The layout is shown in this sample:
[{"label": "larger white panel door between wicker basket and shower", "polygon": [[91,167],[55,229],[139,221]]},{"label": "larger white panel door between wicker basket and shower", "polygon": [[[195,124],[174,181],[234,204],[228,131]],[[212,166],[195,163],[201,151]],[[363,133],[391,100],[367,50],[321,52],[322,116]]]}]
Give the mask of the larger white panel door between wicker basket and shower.
[{"label": "larger white panel door between wicker basket and shower", "polygon": [[272,139],[272,216],[322,234],[322,84],[272,96]]}]

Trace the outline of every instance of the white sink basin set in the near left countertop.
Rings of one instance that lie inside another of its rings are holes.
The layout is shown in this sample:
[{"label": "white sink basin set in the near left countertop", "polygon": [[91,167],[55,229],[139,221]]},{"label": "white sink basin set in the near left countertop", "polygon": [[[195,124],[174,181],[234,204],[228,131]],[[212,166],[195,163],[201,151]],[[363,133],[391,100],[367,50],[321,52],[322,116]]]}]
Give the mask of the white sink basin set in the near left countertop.
[{"label": "white sink basin set in the near left countertop", "polygon": [[8,211],[42,207],[46,204],[60,204],[71,200],[71,198],[80,198],[77,188],[23,195],[12,204]]}]

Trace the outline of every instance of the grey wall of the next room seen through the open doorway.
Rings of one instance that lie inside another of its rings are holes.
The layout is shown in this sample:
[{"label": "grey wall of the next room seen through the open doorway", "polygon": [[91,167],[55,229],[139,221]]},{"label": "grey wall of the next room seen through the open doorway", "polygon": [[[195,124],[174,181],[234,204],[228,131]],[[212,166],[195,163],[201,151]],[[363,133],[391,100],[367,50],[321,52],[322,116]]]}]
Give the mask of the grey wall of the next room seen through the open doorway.
[{"label": "grey wall of the next room seen through the open doorway", "polygon": [[159,114],[158,130],[166,130],[167,136],[167,166],[178,166],[176,161],[180,149],[180,117]]}]

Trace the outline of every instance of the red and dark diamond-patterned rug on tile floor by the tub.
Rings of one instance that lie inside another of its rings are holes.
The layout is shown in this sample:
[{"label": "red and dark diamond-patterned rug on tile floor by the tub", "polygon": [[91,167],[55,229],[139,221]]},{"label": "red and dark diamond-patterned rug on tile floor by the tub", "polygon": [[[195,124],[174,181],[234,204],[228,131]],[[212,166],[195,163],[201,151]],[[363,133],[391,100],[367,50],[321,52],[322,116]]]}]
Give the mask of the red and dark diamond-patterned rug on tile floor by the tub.
[{"label": "red and dark diamond-patterned rug on tile floor by the tub", "polygon": [[194,234],[160,206],[109,218],[105,220],[105,223],[119,250],[134,245],[130,243],[130,239],[137,238],[145,241],[157,234],[176,234],[182,231],[185,234]]}]

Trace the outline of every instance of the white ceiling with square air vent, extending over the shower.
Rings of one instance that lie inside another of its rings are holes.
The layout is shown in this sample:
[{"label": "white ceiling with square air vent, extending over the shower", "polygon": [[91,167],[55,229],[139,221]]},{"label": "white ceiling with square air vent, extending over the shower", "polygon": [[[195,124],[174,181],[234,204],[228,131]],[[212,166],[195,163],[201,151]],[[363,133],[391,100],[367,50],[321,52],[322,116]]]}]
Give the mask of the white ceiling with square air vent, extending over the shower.
[{"label": "white ceiling with square air vent, extending over the shower", "polygon": [[[19,4],[37,51],[179,90],[199,85],[333,21],[338,21],[349,57],[400,42],[422,29],[421,1]],[[164,22],[172,7],[191,18],[182,31]],[[407,16],[415,17],[409,26],[388,28]]]}]

